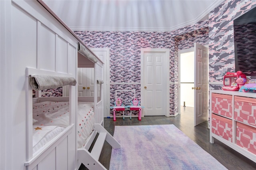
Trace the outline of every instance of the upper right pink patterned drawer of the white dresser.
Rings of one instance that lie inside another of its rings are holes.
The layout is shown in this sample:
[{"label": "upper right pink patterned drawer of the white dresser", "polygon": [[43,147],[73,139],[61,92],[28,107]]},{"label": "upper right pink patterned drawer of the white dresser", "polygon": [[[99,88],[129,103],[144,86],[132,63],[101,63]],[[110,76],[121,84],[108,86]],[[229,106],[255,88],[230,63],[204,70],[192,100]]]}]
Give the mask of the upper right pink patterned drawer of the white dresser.
[{"label": "upper right pink patterned drawer of the white dresser", "polygon": [[235,96],[234,119],[256,126],[256,99]]}]

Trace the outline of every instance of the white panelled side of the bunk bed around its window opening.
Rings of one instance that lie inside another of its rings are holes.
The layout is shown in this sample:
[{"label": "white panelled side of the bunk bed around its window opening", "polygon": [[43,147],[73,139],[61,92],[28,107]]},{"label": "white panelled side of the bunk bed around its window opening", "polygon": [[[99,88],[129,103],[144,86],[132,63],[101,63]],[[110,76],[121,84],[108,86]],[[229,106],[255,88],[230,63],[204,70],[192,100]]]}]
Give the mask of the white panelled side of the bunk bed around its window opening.
[{"label": "white panelled side of the bunk bed around its window opening", "polygon": [[[30,74],[39,70],[58,71],[76,78],[77,43],[78,40],[39,2],[1,2],[1,74],[6,75],[1,76],[1,88],[9,89],[4,94],[1,92],[6,98],[6,102],[1,103],[1,131],[5,133],[1,138],[1,169],[76,169],[76,125],[73,124],[76,123],[77,87],[68,87],[70,125],[73,126],[68,133],[56,136],[56,141],[48,143],[42,152],[33,155],[32,88],[26,70],[33,70]],[[5,55],[2,55],[2,47]],[[2,67],[2,61],[7,66]],[[3,155],[6,158],[2,158]]]}]

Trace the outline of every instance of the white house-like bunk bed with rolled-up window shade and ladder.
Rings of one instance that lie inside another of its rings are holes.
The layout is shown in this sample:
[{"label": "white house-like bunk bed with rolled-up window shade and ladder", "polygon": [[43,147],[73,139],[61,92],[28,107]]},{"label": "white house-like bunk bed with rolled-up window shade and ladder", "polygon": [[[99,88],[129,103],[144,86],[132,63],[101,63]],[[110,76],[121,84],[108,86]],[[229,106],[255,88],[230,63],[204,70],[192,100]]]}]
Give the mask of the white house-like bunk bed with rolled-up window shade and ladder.
[{"label": "white house-like bunk bed with rolled-up window shade and ladder", "polygon": [[[1,55],[1,62],[9,63],[1,63],[1,88],[12,89],[1,91],[0,169],[78,169],[81,163],[106,169],[98,162],[104,141],[114,148],[120,144],[103,128],[104,63],[43,1],[1,1],[0,8],[1,54],[10,54]],[[78,97],[78,67],[94,68],[94,91],[100,95]],[[55,87],[65,89],[66,97],[32,97],[33,89]],[[42,105],[54,108],[35,112]],[[81,130],[84,114],[91,114],[90,126]]]}]

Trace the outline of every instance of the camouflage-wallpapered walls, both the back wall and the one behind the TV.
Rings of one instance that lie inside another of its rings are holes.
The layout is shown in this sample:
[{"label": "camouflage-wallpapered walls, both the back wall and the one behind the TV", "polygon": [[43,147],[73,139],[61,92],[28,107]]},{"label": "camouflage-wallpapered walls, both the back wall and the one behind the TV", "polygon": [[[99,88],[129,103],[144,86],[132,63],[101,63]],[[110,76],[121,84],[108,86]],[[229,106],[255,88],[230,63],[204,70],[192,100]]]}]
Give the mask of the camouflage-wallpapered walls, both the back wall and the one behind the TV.
[{"label": "camouflage-wallpapered walls, both the back wall and the one behind the TV", "polygon": [[175,115],[178,113],[178,50],[193,47],[195,42],[209,45],[209,89],[220,89],[224,74],[234,71],[233,20],[254,4],[256,2],[252,0],[226,0],[210,12],[209,20],[172,32],[75,33],[88,47],[110,48],[112,104],[116,89],[136,89],[140,99],[140,48],[169,48],[170,115]]}]

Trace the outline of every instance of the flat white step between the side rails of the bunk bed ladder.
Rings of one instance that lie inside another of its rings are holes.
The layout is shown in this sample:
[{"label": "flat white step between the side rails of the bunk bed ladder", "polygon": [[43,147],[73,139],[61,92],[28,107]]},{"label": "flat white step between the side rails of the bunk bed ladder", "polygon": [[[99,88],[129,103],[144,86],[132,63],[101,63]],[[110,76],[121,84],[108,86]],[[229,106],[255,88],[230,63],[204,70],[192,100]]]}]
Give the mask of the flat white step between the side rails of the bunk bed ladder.
[{"label": "flat white step between the side rails of the bunk bed ladder", "polygon": [[106,136],[107,136],[106,132],[100,132],[99,136],[92,148],[91,154],[92,154],[92,157],[96,160],[99,160],[99,158],[100,158],[100,153],[103,148]]}]

